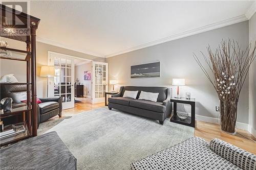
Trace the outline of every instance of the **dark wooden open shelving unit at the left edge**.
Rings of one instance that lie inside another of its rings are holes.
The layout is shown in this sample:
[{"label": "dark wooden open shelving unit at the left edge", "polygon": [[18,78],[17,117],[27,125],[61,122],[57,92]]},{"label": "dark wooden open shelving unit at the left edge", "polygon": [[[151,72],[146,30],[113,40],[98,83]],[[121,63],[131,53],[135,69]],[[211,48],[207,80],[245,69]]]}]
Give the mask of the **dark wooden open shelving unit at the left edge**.
[{"label": "dark wooden open shelving unit at the left edge", "polygon": [[[27,87],[27,103],[13,105],[12,110],[0,112],[0,119],[5,125],[5,118],[18,119],[18,125],[24,125],[25,132],[17,134],[10,138],[0,140],[1,147],[19,140],[37,136],[37,109],[36,109],[36,30],[40,19],[30,16],[26,13],[16,11],[5,5],[0,4],[1,8],[1,29],[15,29],[15,25],[6,25],[6,23],[15,23],[15,18],[19,18],[24,23],[29,23],[27,29],[29,34],[17,35],[0,35],[1,37],[23,41],[26,45],[26,50],[17,50],[14,48],[1,47],[1,52],[11,54],[10,56],[0,56],[2,60],[16,60],[26,62],[27,82],[24,83],[1,83],[7,86],[24,85]],[[31,99],[31,100],[30,100]],[[20,118],[22,117],[22,118]],[[16,124],[17,125],[17,124]]]}]

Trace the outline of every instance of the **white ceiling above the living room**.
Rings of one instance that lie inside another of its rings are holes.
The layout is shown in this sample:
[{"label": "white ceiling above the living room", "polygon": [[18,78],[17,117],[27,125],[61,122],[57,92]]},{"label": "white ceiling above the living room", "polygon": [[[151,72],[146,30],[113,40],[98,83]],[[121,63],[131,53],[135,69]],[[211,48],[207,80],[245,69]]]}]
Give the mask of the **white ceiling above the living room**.
[{"label": "white ceiling above the living room", "polygon": [[255,1],[31,2],[38,41],[98,57],[248,20],[255,9]]}]

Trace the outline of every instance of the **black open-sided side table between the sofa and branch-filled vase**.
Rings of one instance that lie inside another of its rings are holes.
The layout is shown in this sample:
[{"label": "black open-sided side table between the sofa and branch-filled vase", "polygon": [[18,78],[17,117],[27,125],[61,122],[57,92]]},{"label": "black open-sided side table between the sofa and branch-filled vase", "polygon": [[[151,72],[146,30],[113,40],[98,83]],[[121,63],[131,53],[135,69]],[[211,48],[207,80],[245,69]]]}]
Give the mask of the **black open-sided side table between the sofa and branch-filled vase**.
[{"label": "black open-sided side table between the sofa and branch-filled vase", "polygon": [[[195,104],[196,100],[194,98],[186,99],[186,98],[172,98],[170,102],[174,103],[174,113],[170,117],[170,122],[174,122],[181,125],[186,125],[195,128]],[[189,104],[191,105],[191,116],[188,116],[185,120],[180,119],[177,115],[177,103]]]}]

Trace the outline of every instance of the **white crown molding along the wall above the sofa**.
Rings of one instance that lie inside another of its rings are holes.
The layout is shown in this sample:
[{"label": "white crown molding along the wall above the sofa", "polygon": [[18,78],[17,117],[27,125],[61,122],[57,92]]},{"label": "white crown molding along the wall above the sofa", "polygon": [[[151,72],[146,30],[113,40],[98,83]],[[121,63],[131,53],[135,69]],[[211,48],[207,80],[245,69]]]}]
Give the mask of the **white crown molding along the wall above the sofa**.
[{"label": "white crown molding along the wall above the sofa", "polygon": [[145,47],[148,47],[148,46],[153,46],[153,45],[161,44],[161,43],[164,43],[164,42],[168,42],[168,41],[188,37],[188,36],[191,36],[191,35],[203,33],[203,32],[206,32],[206,31],[222,28],[222,27],[229,26],[229,25],[232,25],[234,23],[239,23],[239,22],[246,21],[246,20],[248,20],[248,18],[245,15],[240,15],[240,16],[233,17],[233,18],[230,18],[230,19],[227,19],[227,20],[212,23],[212,24],[204,26],[204,27],[189,30],[189,31],[179,33],[179,34],[175,34],[175,35],[172,35],[172,36],[169,36],[169,37],[161,38],[161,39],[156,40],[156,41],[147,42],[147,43],[144,43],[142,45],[127,48],[127,49],[121,50],[117,53],[112,53],[110,55],[106,55],[105,58],[114,57],[114,56],[117,56],[117,55],[120,55],[120,54],[132,52],[132,51],[135,51],[135,50],[139,50],[141,48],[145,48]]}]

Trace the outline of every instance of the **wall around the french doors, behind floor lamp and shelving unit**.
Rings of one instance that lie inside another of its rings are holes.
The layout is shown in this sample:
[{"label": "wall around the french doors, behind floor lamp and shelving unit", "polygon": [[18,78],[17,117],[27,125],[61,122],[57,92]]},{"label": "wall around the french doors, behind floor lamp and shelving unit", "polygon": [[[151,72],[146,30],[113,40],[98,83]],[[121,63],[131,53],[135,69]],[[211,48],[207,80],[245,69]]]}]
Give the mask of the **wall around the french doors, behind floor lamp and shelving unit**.
[{"label": "wall around the french doors, behind floor lamp and shelving unit", "polygon": [[[24,42],[19,42],[7,38],[2,38],[1,40],[6,40],[9,43],[8,47],[17,48],[20,50],[26,50],[26,44]],[[86,58],[94,61],[104,62],[104,58],[95,57],[88,54],[83,54],[79,52],[75,52],[72,50],[67,50],[65,48],[57,47],[54,45],[49,45],[41,42],[36,42],[36,74],[37,74],[37,96],[45,97],[47,91],[47,78],[40,77],[40,69],[42,65],[48,65],[48,51],[62,53],[66,55],[71,55],[75,57]],[[10,61],[10,60],[0,60],[0,76],[4,76],[7,74],[14,74],[19,82],[26,82],[26,63],[18,62],[18,61]]]}]

